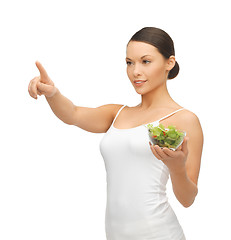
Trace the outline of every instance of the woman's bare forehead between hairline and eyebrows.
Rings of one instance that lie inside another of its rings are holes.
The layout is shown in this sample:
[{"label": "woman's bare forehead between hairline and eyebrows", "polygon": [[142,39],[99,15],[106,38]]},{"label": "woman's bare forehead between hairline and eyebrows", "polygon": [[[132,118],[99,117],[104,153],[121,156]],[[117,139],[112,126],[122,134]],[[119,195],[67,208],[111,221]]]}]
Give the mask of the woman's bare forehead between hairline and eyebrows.
[{"label": "woman's bare forehead between hairline and eyebrows", "polygon": [[156,56],[159,54],[159,51],[156,47],[149,43],[131,41],[127,45],[126,54],[127,57],[141,57],[146,54]]}]

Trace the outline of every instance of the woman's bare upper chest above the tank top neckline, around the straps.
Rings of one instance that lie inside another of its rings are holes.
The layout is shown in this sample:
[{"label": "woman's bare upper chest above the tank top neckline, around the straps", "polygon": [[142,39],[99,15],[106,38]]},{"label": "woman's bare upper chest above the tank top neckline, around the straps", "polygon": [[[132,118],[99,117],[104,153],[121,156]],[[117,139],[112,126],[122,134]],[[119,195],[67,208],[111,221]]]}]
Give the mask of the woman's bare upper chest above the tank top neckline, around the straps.
[{"label": "woman's bare upper chest above the tank top neckline, around the straps", "polygon": [[[122,106],[123,105],[118,105],[117,111]],[[175,105],[172,107],[156,108],[152,110],[143,111],[143,110],[140,110],[138,106],[135,106],[135,107],[125,106],[120,112],[119,116],[117,117],[113,125],[115,128],[118,128],[118,129],[134,128],[143,124],[147,124],[147,123],[151,123],[156,120],[159,120],[160,118],[180,108],[183,108],[183,107],[181,107],[180,105]],[[115,112],[115,115],[117,111]],[[160,123],[162,123],[165,127],[167,127],[170,124],[173,124],[180,129],[182,127],[185,116],[190,114],[192,113],[189,110],[184,109],[182,111],[179,111],[161,120]]]}]

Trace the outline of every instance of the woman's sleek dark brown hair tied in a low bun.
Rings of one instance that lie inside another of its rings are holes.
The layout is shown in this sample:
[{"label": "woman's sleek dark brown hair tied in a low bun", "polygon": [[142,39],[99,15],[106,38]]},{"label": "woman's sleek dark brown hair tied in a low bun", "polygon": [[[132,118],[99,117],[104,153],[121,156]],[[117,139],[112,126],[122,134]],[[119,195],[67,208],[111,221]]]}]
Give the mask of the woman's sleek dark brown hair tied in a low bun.
[{"label": "woman's sleek dark brown hair tied in a low bun", "polygon": [[[174,43],[172,38],[160,28],[144,27],[136,32],[131,37],[129,42],[130,41],[145,42],[153,45],[164,56],[165,59],[168,59],[171,55],[175,56]],[[179,70],[179,64],[177,61],[175,61],[175,66],[168,73],[168,79],[175,78],[179,73]]]}]

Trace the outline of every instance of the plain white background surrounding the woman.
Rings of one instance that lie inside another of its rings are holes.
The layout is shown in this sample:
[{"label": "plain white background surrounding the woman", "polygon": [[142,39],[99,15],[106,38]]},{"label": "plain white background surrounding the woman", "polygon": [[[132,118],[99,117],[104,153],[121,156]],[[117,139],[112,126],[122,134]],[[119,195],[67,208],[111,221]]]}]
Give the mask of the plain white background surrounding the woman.
[{"label": "plain white background surrounding the woman", "polygon": [[[28,93],[39,60],[77,106],[140,102],[126,74],[126,44],[154,26],[173,39],[172,98],[200,119],[199,193],[184,208],[167,185],[187,240],[231,239],[229,1],[0,2],[0,239],[106,239],[104,134],[64,124]],[[143,239],[141,239],[143,240]]]}]

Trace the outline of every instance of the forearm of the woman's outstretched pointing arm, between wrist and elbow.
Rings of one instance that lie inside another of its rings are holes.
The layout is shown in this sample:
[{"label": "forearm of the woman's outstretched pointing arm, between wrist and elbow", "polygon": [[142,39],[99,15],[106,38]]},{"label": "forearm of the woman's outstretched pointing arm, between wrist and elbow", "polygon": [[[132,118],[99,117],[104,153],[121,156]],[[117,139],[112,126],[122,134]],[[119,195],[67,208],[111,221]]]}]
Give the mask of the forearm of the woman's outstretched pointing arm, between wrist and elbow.
[{"label": "forearm of the woman's outstretched pointing arm, between wrist and elbow", "polygon": [[64,97],[60,91],[52,97],[46,97],[53,113],[64,123],[71,124],[74,115],[74,104],[66,97]]}]

